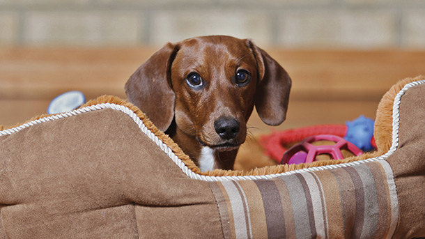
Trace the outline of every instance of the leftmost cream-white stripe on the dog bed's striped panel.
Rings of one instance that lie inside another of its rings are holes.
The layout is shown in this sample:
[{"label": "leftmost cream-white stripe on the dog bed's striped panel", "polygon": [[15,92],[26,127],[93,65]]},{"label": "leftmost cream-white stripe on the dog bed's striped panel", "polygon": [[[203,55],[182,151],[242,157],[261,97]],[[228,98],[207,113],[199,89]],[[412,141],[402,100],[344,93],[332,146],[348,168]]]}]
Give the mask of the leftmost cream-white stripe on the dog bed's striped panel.
[{"label": "leftmost cream-white stripe on the dog bed's striped panel", "polygon": [[222,185],[226,189],[227,194],[229,194],[229,202],[233,211],[233,224],[235,226],[235,236],[238,238],[247,238],[247,224],[246,224],[246,215],[243,208],[242,197],[238,192],[235,184],[232,181],[223,181]]}]

